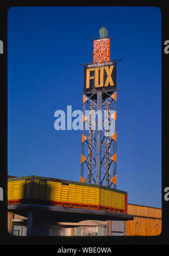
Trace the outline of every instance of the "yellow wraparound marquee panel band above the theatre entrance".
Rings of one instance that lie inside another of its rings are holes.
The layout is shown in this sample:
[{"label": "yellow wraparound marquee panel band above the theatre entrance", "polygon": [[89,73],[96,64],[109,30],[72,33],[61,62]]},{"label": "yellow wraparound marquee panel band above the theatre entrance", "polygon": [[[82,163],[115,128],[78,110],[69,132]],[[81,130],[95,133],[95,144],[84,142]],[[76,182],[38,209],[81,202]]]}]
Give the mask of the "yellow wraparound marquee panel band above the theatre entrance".
[{"label": "yellow wraparound marquee panel band above the theatre entrance", "polygon": [[32,184],[32,197],[35,199],[79,203],[84,207],[95,205],[124,210],[124,193],[85,184],[64,185],[61,182],[38,179],[8,182],[8,200],[30,198]]}]

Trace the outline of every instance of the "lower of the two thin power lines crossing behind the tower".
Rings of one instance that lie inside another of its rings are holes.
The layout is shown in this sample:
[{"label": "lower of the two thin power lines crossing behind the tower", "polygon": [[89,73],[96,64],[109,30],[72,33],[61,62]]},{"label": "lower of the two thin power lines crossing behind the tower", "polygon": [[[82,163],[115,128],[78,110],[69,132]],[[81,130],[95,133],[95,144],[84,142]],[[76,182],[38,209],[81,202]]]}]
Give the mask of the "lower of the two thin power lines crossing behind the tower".
[{"label": "lower of the two thin power lines crossing behind the tower", "polygon": [[[76,144],[80,144],[80,143],[79,143],[79,142],[77,142],[77,141],[70,140],[69,138],[66,138],[66,137],[64,137],[64,136],[60,136],[60,135],[55,134],[55,133],[52,133],[52,132],[48,132],[48,131],[46,131],[46,130],[44,130],[44,129],[42,129],[42,128],[36,127],[36,126],[34,126],[34,125],[32,125],[32,124],[25,123],[25,122],[23,122],[23,121],[21,121],[21,120],[18,120],[18,119],[15,119],[15,118],[10,118],[10,117],[8,117],[8,118],[9,118],[9,119],[12,119],[12,120],[15,120],[15,121],[17,121],[17,122],[20,122],[20,123],[23,123],[23,124],[29,125],[30,127],[33,127],[33,128],[39,129],[39,130],[41,130],[41,131],[43,131],[43,132],[50,133],[51,135],[55,135],[55,136],[57,136],[57,137],[64,138],[65,140],[72,141],[72,142],[74,142],[74,143],[76,143]],[[117,157],[117,158],[121,158],[121,157]],[[152,170],[152,171],[159,172],[158,170],[155,170],[155,169],[150,168],[150,167],[147,167],[147,166],[143,166],[142,164],[139,164],[139,163],[132,162],[131,160],[124,159],[124,158],[121,158],[121,159],[126,160],[126,161],[128,161],[128,162],[130,162],[130,163],[137,164],[137,165],[139,165],[139,166],[141,166],[141,167],[148,168],[148,169],[150,169],[150,170]]]}]

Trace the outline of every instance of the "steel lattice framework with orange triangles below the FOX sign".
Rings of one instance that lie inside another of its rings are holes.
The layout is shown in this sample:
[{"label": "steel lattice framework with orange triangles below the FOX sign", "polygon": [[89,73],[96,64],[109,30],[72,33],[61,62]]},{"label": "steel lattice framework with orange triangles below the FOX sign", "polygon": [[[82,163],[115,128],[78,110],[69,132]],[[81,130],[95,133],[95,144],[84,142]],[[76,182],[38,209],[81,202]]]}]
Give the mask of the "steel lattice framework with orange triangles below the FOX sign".
[{"label": "steel lattice framework with orange triangles below the FOX sign", "polygon": [[[117,92],[119,90],[104,91],[104,99],[103,92],[97,91],[83,94],[82,182],[109,187],[113,184],[113,188],[117,188],[116,122]],[[86,110],[90,110],[88,116],[85,115]],[[99,128],[97,110],[103,113],[102,129]],[[87,130],[86,122],[88,125]],[[112,122],[114,122],[113,134],[110,133]]]}]

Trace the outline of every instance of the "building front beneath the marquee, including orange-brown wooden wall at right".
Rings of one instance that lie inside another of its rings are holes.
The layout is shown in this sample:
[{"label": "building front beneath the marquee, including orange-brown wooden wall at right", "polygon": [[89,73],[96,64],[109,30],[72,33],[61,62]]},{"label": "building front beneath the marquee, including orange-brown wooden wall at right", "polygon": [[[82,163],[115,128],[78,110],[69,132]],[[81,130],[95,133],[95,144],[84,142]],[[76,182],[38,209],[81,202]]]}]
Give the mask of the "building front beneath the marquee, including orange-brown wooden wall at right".
[{"label": "building front beneath the marquee, including orange-brown wooden wall at right", "polygon": [[[84,220],[79,223],[39,223],[34,227],[37,236],[158,236],[162,231],[162,210],[128,203],[128,214],[134,220]],[[8,232],[26,236],[28,218],[8,212]]]}]

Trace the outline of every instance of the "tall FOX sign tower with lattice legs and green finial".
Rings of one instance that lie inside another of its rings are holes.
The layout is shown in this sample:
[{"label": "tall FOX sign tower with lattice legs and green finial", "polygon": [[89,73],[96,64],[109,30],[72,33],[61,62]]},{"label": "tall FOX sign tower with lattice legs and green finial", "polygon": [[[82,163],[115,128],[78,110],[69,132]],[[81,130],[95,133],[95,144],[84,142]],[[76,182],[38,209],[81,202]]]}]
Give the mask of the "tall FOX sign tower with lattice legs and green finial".
[{"label": "tall FOX sign tower with lattice legs and green finial", "polygon": [[93,63],[84,67],[81,182],[117,188],[117,89],[120,59],[110,60],[108,29],[93,39]]}]

